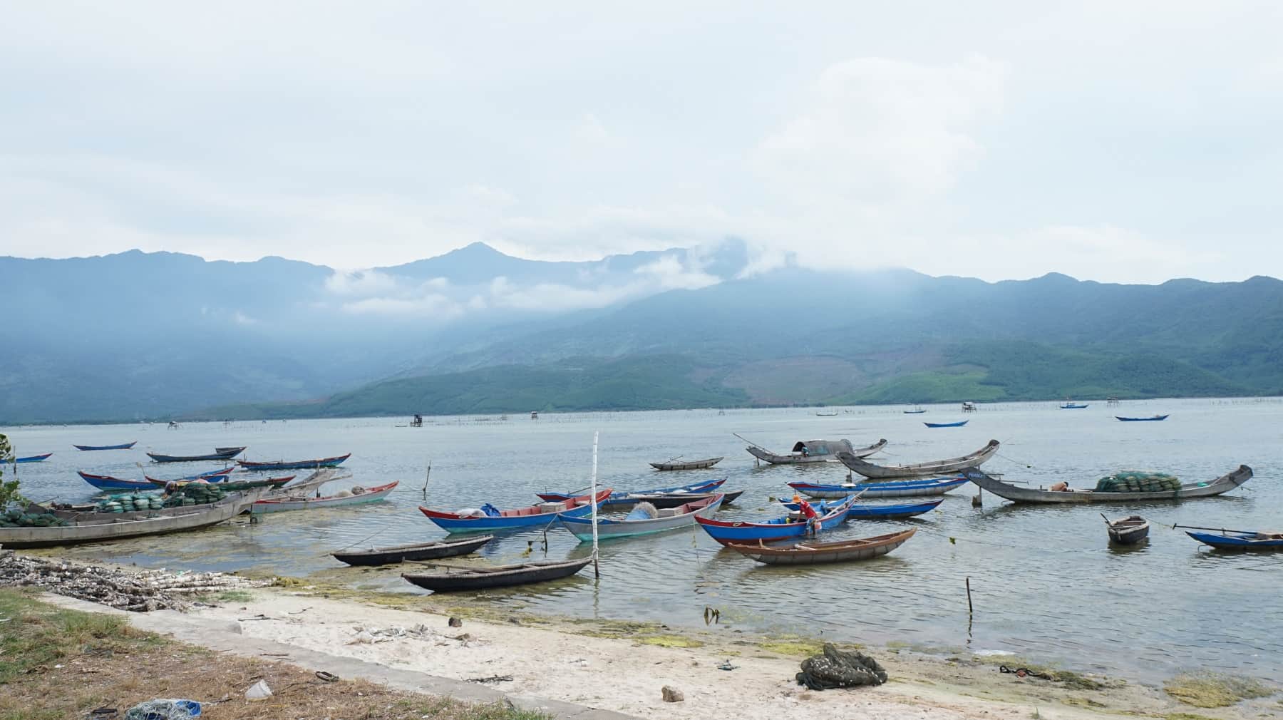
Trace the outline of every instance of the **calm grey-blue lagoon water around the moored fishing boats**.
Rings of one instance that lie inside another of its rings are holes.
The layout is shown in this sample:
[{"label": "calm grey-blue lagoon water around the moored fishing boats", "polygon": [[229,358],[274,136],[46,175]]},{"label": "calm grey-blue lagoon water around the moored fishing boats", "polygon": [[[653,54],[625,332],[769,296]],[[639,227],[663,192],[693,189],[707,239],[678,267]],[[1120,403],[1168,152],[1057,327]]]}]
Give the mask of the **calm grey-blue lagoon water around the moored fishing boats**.
[{"label": "calm grey-blue lagoon water around the moored fishing boats", "polygon": [[[81,560],[201,570],[266,570],[318,575],[361,588],[416,590],[395,569],[348,569],[328,552],[426,540],[444,535],[423,517],[425,468],[431,462],[426,504],[455,510],[491,502],[526,506],[541,490],[588,485],[593,433],[600,431],[599,481],[616,489],[676,485],[727,477],[744,497],[720,516],[766,519],[771,497],[788,481],[840,481],[840,465],[756,467],[745,438],[776,452],[799,439],[848,438],[856,445],[887,438],[883,462],[955,457],[990,438],[1003,443],[985,465],[1008,480],[1091,486],[1123,468],[1156,468],[1183,479],[1212,479],[1237,467],[1256,471],[1229,495],[1187,503],[1093,507],[1003,504],[985,494],[971,506],[974,486],[946,497],[938,511],[908,521],[853,521],[828,535],[843,539],[913,526],[917,535],[880,560],[804,569],[762,567],[724,551],[702,530],[615,540],[602,545],[602,576],[488,593],[488,602],[577,617],[657,620],[703,626],[706,606],[724,626],[822,634],[852,642],[899,642],[942,652],[1010,651],[1106,674],[1155,680],[1180,669],[1221,669],[1283,680],[1283,553],[1210,553],[1173,522],[1232,529],[1283,526],[1283,404],[1266,400],[1147,400],[1117,408],[1093,402],[1062,411],[1055,403],[981,406],[960,429],[929,430],[924,420],[964,418],[956,406],[925,415],[901,407],[845,408],[835,417],[815,409],[749,409],[429,418],[422,429],[398,427],[404,418],[290,422],[17,427],[9,435],[19,454],[54,450],[44,463],[18,466],[33,499],[81,501],[92,488],[76,470],[139,476],[176,476],[213,467],[148,463],[144,450],[209,452],[249,445],[250,459],[323,457],[352,452],[352,480],[331,485],[376,485],[400,480],[390,502],[316,512],[273,515],[196,533],[85,545],[60,551]],[[1114,415],[1171,413],[1165,422],[1124,424]],[[139,440],[133,450],[77,452],[77,444]],[[725,456],[708,471],[654,472],[647,465],[672,456]],[[12,466],[6,467],[6,475]],[[892,502],[892,501],[871,501]],[[1110,549],[1100,512],[1141,513],[1153,529],[1148,544]],[[1164,526],[1165,524],[1165,526]],[[547,534],[547,557],[588,552],[565,529]],[[482,557],[520,561],[543,534],[502,535]],[[969,622],[964,583],[971,578],[975,615]]]}]

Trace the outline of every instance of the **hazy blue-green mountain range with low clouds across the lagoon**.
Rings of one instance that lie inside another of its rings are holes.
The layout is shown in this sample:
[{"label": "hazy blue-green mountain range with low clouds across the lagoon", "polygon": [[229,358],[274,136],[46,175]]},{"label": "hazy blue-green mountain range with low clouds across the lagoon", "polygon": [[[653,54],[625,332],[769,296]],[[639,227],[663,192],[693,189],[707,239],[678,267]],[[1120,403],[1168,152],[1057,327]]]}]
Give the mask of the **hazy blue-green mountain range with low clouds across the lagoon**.
[{"label": "hazy blue-green mountain range with low clouds across the lagoon", "polygon": [[0,257],[0,422],[1283,393],[1283,282],[754,271],[744,243],[340,272]]}]

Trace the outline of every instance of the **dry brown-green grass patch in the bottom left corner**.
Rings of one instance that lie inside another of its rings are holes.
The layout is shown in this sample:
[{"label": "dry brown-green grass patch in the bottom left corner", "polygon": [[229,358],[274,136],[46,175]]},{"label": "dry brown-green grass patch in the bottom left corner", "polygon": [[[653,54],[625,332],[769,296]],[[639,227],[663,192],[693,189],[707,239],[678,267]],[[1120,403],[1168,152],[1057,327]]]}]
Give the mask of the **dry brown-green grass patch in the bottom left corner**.
[{"label": "dry brown-green grass patch in the bottom left corner", "polygon": [[[63,610],[30,590],[0,588],[0,720],[85,717],[96,707],[130,707],[153,698],[217,706],[219,720],[352,717],[362,720],[550,720],[502,705],[391,690],[364,680],[325,683],[312,670],[240,658],[133,629],[124,619]],[[266,680],[264,703],[244,699]],[[210,708],[213,710],[213,708]]]}]

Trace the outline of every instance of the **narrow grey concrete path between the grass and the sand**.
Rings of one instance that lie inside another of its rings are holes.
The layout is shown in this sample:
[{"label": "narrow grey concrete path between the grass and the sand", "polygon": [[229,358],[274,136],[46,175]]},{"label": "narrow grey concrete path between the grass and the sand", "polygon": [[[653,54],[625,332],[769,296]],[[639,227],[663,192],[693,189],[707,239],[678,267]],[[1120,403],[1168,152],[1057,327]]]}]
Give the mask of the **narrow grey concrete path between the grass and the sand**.
[{"label": "narrow grey concrete path between the grass and the sand", "polygon": [[105,604],[98,604],[76,598],[45,593],[42,599],[69,610],[85,612],[100,612],[118,615],[130,621],[140,630],[157,633],[159,635],[172,635],[176,640],[209,648],[213,651],[239,655],[241,657],[280,660],[307,670],[325,670],[343,679],[362,679],[380,683],[398,690],[412,693],[425,693],[432,696],[449,696],[464,702],[503,702],[521,710],[538,710],[548,712],[554,717],[574,720],[636,720],[633,715],[624,715],[611,710],[585,707],[570,702],[544,699],[530,696],[509,694],[499,689],[488,688],[476,683],[466,683],[450,678],[439,678],[416,673],[414,670],[399,670],[357,660],[353,657],[339,657],[295,646],[249,638],[241,634],[239,622],[225,622],[221,620],[205,620],[191,617],[173,610],[158,610],[154,612],[126,612]]}]

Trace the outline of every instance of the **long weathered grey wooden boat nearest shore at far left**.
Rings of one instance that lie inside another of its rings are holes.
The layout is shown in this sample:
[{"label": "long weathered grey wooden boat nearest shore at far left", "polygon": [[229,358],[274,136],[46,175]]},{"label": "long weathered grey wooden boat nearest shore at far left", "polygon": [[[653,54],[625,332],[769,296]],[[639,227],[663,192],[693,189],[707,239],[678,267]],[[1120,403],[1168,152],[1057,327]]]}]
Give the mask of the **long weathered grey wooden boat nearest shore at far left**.
[{"label": "long weathered grey wooden boat nearest shore at far left", "polygon": [[255,497],[254,493],[235,493],[217,503],[146,512],[55,512],[68,525],[0,527],[0,545],[14,549],[47,548],[182,533],[231,520],[245,512]]}]

